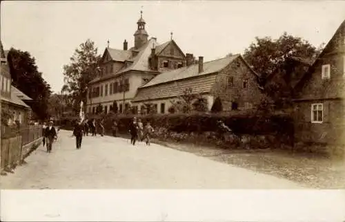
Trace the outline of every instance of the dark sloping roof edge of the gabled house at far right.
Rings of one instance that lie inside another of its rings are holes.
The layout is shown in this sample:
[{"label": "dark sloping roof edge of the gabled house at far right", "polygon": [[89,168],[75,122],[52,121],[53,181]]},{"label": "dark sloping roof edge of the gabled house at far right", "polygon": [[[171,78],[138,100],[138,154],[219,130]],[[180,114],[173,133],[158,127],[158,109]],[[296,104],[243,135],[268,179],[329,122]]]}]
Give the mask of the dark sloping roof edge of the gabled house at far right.
[{"label": "dark sloping roof edge of the gabled house at far right", "polygon": [[311,75],[314,73],[315,70],[315,66],[317,65],[317,62],[319,60],[319,58],[323,57],[324,54],[326,53],[326,51],[328,51],[328,48],[331,46],[332,42],[334,41],[335,37],[337,35],[339,35],[339,33],[342,33],[343,35],[345,35],[345,20],[342,21],[342,24],[340,24],[339,28],[337,28],[337,30],[335,31],[335,33],[333,34],[333,36],[331,37],[331,39],[328,41],[328,43],[326,44],[326,46],[324,47],[324,50],[322,50],[322,52],[320,53],[320,55],[315,59],[315,61],[313,62],[313,65],[311,65],[308,68],[308,71],[306,71],[306,73],[304,73],[303,77],[301,78],[301,80],[299,80],[299,82],[297,82],[295,89],[297,91],[299,91],[300,89],[302,89],[302,87],[304,86],[304,83],[309,80],[309,78],[311,77]]}]

